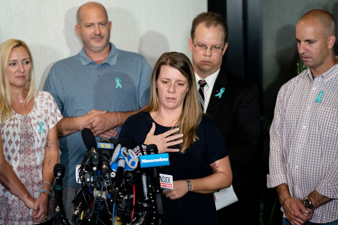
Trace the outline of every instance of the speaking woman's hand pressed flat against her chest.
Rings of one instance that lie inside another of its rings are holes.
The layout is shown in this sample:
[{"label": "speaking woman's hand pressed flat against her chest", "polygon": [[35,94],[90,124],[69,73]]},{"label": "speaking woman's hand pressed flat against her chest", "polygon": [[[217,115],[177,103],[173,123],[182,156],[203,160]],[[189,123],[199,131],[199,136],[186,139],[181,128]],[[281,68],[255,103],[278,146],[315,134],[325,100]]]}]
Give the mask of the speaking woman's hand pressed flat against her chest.
[{"label": "speaking woman's hand pressed flat against her chest", "polygon": [[167,132],[164,132],[163,134],[159,135],[154,135],[155,133],[155,123],[152,123],[151,129],[149,133],[147,134],[147,137],[144,141],[144,144],[149,145],[149,144],[155,144],[157,146],[157,149],[159,149],[159,153],[164,153],[164,152],[177,152],[179,149],[173,149],[173,148],[168,148],[169,146],[177,145],[183,142],[182,139],[173,141],[178,138],[182,138],[183,134],[176,134],[173,136],[169,136],[177,131],[179,131],[179,128],[174,128],[171,129]]}]

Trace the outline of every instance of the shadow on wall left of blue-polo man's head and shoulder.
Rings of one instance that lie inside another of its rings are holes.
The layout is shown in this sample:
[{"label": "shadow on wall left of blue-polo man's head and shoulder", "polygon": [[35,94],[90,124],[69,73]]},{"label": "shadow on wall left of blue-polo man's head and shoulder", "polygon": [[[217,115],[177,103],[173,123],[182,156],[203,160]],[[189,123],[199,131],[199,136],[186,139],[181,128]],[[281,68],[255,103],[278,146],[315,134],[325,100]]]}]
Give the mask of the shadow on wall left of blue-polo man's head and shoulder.
[{"label": "shadow on wall left of blue-polo man's head and shoulder", "polygon": [[[76,21],[76,12],[78,7],[73,7],[69,10],[67,10],[65,14],[65,29],[63,30],[63,34],[66,40],[67,47],[70,50],[69,56],[76,55],[80,52],[82,48],[82,42],[80,37],[75,32],[75,25],[77,24]],[[42,77],[40,80],[39,90],[43,89],[43,86],[45,85],[47,76],[49,74],[50,69],[54,65],[55,62],[50,63],[42,73]]]}]

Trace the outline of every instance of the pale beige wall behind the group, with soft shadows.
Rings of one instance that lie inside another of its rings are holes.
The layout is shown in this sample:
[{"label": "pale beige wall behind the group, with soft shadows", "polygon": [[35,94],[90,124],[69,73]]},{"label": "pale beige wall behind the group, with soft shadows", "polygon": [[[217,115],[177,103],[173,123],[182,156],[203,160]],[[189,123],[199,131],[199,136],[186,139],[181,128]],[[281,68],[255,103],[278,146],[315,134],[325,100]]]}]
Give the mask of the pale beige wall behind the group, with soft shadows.
[{"label": "pale beige wall behind the group, with soft shadows", "polygon": [[[50,67],[57,60],[77,54],[77,8],[80,0],[0,0],[0,43],[24,40],[34,59],[36,87],[42,89]],[[207,11],[207,0],[98,0],[112,21],[111,42],[117,48],[138,52],[151,67],[165,51],[185,53],[192,19]]]}]

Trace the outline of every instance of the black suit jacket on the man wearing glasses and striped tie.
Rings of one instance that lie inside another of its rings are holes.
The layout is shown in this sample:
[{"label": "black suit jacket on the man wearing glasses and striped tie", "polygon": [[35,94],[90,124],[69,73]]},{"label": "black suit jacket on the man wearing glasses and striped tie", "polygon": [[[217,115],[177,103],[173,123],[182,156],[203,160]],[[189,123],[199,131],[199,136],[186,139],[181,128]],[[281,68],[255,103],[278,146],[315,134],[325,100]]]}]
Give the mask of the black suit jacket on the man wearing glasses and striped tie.
[{"label": "black suit jacket on the man wearing glasses and striped tie", "polygon": [[[220,89],[225,90],[219,98]],[[256,149],[261,130],[257,85],[220,70],[207,108],[218,124],[226,146],[236,192],[248,183],[248,163]],[[249,190],[247,190],[249,191]],[[239,197],[239,196],[238,196]]]}]

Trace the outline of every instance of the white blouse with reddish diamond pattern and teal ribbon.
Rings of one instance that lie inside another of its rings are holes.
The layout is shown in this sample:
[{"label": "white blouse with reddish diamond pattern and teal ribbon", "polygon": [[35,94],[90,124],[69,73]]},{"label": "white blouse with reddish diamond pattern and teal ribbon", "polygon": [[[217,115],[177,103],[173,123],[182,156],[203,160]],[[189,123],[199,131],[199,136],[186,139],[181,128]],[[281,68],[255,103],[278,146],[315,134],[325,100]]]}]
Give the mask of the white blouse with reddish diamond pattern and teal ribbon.
[{"label": "white blouse with reddish diamond pattern and teal ribbon", "polygon": [[[62,118],[52,95],[36,91],[30,113],[14,112],[1,127],[4,158],[13,168],[29,194],[37,199],[42,185],[42,166],[47,134]],[[38,224],[30,210],[4,186],[0,185],[0,224]],[[53,217],[53,198],[49,200],[47,220]],[[43,221],[45,222],[45,221]]]}]

